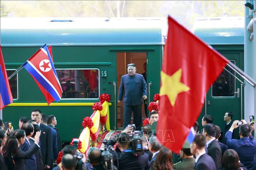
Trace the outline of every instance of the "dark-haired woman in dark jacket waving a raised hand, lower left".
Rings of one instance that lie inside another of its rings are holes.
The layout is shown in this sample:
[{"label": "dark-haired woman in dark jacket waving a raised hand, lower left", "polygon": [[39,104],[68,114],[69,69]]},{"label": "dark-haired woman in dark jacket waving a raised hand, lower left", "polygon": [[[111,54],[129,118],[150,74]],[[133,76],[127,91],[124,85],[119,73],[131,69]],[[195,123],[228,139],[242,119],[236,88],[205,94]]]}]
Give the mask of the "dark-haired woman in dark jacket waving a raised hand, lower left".
[{"label": "dark-haired woman in dark jacket waving a raised hand, lower left", "polygon": [[25,131],[17,129],[13,132],[13,135],[8,137],[3,147],[3,157],[5,158],[8,170],[25,170],[25,160],[30,158],[38,149],[40,132],[35,135],[35,144],[27,152],[23,152],[19,145],[23,145],[25,142]]}]

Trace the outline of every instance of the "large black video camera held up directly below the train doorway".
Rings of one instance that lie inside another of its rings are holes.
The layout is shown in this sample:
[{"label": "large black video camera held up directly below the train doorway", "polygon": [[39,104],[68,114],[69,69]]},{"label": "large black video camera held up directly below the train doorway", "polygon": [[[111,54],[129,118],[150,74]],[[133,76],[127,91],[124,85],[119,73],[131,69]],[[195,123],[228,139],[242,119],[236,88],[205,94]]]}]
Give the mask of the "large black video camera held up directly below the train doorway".
[{"label": "large black video camera held up directly below the train doorway", "polygon": [[132,147],[132,154],[135,155],[135,156],[143,155],[144,154],[144,149],[142,147],[142,140],[139,137],[138,133],[136,133],[136,131],[135,131],[135,129],[136,129],[135,124],[131,124],[131,125],[128,125],[128,126],[132,127],[131,134],[129,135],[131,137],[131,141],[132,141],[132,146],[131,146]]}]

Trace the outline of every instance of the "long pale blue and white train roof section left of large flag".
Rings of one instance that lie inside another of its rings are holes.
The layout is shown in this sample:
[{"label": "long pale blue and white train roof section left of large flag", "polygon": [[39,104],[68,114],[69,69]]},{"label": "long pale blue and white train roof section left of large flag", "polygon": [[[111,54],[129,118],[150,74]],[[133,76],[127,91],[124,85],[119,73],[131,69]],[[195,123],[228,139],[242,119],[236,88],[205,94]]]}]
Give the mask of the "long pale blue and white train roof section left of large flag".
[{"label": "long pale blue and white train roof section left of large flag", "polygon": [[1,46],[164,45],[166,18],[1,18]]}]

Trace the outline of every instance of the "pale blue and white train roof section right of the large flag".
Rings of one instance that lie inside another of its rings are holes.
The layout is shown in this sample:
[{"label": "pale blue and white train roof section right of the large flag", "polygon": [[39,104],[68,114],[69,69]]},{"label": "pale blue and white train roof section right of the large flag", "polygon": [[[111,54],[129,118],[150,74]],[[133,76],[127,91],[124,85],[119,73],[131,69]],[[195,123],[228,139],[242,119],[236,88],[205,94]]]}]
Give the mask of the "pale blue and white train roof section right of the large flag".
[{"label": "pale blue and white train roof section right of the large flag", "polygon": [[242,45],[244,44],[244,18],[195,18],[194,34],[210,45]]}]

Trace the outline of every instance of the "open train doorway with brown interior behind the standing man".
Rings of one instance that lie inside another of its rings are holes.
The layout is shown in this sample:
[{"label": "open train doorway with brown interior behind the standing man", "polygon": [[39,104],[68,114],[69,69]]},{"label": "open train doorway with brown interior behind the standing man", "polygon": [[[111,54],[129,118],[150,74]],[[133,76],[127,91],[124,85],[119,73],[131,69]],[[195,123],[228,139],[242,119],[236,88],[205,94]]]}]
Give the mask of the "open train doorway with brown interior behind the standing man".
[{"label": "open train doorway with brown interior behind the standing man", "polygon": [[[134,63],[136,64],[136,73],[137,74],[143,74],[144,78],[147,78],[147,53],[117,53],[117,97],[118,97],[118,91],[120,87],[121,78],[123,75],[127,74],[127,64]],[[142,120],[146,118],[147,112],[147,102],[142,104]],[[122,129],[124,122],[124,105],[122,102],[117,102],[117,129]],[[133,122],[133,114],[131,117],[131,124]]]}]

